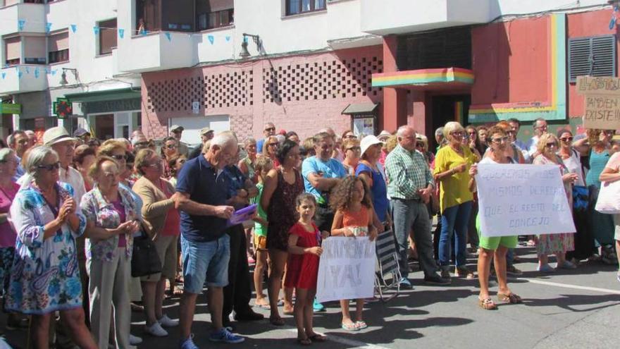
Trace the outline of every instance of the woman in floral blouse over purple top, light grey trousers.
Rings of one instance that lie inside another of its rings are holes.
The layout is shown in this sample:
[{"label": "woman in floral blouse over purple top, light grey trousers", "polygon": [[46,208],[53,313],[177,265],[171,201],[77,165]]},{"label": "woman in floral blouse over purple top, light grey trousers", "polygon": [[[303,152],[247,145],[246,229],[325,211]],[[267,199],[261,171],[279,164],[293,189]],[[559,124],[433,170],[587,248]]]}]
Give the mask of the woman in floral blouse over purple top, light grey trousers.
[{"label": "woman in floral blouse over purple top, light grey trousers", "polygon": [[80,205],[87,218],[90,324],[99,348],[108,346],[111,324],[118,347],[129,348],[130,345],[128,290],[133,233],[140,224],[137,203],[130,190],[119,183],[120,171],[113,158],[97,157],[89,171],[95,186],[82,197]]}]

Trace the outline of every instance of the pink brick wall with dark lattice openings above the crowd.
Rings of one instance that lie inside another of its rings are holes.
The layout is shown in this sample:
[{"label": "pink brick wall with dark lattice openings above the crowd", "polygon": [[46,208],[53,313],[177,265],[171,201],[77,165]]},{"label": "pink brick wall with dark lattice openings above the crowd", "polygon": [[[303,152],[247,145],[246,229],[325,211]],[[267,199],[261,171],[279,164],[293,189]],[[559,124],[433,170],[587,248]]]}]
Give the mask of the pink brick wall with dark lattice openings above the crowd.
[{"label": "pink brick wall with dark lattice openings above the crowd", "polygon": [[383,101],[383,89],[371,87],[372,73],[382,71],[377,46],[143,73],[143,128],[161,137],[168,118],[194,115],[197,101],[197,116],[228,114],[241,138],[262,137],[267,121],[302,138],[328,126],[341,133],[351,126],[341,114],[349,104]]}]

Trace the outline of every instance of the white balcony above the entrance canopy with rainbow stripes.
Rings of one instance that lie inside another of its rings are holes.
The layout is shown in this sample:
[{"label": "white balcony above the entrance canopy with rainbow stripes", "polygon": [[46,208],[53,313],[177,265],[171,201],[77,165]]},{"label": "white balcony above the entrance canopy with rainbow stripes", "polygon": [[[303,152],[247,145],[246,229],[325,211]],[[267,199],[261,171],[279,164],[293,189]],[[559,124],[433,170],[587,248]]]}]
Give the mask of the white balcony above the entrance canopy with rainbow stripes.
[{"label": "white balcony above the entrance canopy with rainbow stripes", "polygon": [[490,0],[361,0],[361,31],[390,35],[487,23],[496,6]]}]

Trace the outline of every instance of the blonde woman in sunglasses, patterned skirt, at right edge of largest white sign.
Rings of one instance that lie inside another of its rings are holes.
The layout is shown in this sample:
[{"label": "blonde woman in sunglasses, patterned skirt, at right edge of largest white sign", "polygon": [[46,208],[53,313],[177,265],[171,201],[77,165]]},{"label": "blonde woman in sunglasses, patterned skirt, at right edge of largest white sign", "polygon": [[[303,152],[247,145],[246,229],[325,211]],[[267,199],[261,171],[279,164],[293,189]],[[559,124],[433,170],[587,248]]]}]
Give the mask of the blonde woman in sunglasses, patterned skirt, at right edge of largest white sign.
[{"label": "blonde woman in sunglasses, patterned skirt, at right edge of largest white sign", "polygon": [[[558,143],[557,137],[552,133],[541,135],[536,145],[540,154],[534,158],[533,164],[557,165],[559,171],[562,173],[562,182],[564,183],[564,190],[566,190],[566,197],[569,202],[571,202],[571,186],[575,183],[578,176],[576,173],[570,173],[569,169],[564,165],[564,161],[556,154]],[[555,271],[555,269],[549,265],[548,255],[556,255],[557,268],[576,268],[575,264],[566,260],[566,251],[574,250],[574,236],[572,233],[543,234],[538,235],[537,240],[536,252],[538,254],[538,271],[543,273]]]}]

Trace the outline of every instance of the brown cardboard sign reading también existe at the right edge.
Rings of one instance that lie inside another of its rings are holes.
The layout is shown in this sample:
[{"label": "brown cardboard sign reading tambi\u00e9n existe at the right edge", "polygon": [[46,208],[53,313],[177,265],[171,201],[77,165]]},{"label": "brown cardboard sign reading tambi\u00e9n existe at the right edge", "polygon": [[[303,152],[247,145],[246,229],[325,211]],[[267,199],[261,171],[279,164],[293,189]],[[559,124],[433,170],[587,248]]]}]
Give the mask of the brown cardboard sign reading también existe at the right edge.
[{"label": "brown cardboard sign reading tambi\u00e9n existe at the right edge", "polygon": [[576,89],[585,97],[585,128],[620,129],[619,78],[580,76]]}]

